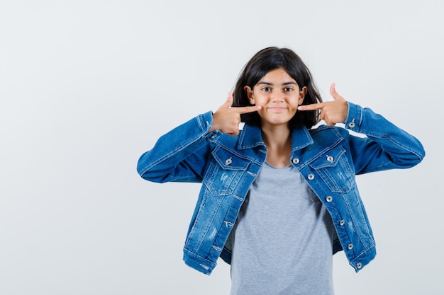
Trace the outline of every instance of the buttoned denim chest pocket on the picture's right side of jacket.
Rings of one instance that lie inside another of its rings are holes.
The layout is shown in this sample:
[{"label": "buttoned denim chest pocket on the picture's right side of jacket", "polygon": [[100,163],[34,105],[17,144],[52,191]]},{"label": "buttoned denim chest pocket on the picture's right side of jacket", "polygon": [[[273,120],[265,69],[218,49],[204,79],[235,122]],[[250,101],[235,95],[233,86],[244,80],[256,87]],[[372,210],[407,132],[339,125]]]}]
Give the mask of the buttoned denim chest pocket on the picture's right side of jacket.
[{"label": "buttoned denim chest pocket on the picture's right side of jacket", "polygon": [[348,192],[355,185],[355,173],[342,146],[327,151],[310,163],[331,192]]}]

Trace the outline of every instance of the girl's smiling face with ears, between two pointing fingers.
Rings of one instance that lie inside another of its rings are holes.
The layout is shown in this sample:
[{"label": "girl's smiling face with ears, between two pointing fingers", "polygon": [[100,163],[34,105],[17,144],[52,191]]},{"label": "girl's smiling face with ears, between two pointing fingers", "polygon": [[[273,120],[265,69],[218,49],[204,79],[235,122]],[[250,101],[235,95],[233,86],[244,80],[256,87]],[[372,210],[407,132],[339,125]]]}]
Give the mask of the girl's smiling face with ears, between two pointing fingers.
[{"label": "girl's smiling face with ears, between two pointing fingers", "polygon": [[244,87],[250,103],[261,105],[257,112],[261,125],[287,125],[296,114],[298,105],[304,101],[306,87],[299,88],[298,84],[284,69],[269,71],[251,89]]}]

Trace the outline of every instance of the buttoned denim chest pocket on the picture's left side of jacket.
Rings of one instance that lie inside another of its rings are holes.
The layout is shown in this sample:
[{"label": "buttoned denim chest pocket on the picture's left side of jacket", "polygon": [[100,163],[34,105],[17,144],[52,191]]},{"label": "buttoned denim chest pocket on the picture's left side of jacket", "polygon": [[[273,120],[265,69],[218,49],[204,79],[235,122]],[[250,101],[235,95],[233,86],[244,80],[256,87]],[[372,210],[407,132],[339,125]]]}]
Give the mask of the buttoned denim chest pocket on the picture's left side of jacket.
[{"label": "buttoned denim chest pocket on the picture's left side of jacket", "polygon": [[232,195],[250,161],[216,147],[203,183],[212,195]]}]

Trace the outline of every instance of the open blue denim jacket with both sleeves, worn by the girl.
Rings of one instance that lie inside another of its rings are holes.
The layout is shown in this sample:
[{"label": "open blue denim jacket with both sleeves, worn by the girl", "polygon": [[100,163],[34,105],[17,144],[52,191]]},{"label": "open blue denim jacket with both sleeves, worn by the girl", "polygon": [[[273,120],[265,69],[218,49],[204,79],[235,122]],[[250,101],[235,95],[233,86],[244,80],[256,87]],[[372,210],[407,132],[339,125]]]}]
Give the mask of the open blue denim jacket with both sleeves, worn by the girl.
[{"label": "open blue denim jacket with both sleeves, worn by the girl", "polygon": [[[321,125],[292,131],[291,163],[331,214],[337,239],[358,272],[376,255],[372,229],[355,175],[418,164],[421,143],[381,115],[348,103],[345,127]],[[194,117],[158,139],[138,161],[138,173],[156,183],[202,183],[184,245],[184,262],[211,274],[221,257],[231,262],[228,239],[240,206],[267,156],[259,127],[245,125],[238,136],[208,132],[211,112]]]}]

